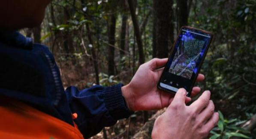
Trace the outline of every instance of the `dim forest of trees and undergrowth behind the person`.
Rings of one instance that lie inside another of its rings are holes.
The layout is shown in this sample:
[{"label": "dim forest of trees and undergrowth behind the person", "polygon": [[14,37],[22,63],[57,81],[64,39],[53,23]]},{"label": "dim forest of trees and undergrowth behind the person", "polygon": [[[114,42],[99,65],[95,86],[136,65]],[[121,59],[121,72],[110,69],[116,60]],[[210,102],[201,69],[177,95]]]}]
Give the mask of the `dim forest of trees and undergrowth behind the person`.
[{"label": "dim forest of trees and undergrowth behind the person", "polygon": [[[220,113],[209,138],[256,139],[256,0],[53,0],[42,25],[21,32],[51,49],[64,87],[83,89],[128,84],[140,64],[169,56],[184,25],[214,34],[196,84]],[[163,111],[138,111],[92,139],[150,139]]]}]

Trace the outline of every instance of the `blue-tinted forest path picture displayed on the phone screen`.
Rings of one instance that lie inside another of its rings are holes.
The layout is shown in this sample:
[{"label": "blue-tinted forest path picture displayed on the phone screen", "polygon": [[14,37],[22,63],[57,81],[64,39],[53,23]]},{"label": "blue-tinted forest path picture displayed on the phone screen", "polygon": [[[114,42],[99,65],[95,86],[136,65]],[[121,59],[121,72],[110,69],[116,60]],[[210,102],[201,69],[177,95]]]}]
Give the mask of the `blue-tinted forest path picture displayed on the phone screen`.
[{"label": "blue-tinted forest path picture displayed on the phone screen", "polygon": [[168,72],[190,79],[205,41],[194,38],[189,32],[182,32],[182,34]]}]

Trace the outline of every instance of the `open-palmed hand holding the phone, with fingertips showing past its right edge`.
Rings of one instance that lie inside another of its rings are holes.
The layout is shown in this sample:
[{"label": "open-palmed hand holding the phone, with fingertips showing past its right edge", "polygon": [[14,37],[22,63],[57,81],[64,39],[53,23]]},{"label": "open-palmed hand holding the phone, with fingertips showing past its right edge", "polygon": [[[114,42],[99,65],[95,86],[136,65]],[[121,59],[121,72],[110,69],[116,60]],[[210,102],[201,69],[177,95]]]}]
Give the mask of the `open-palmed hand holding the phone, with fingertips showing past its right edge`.
[{"label": "open-palmed hand holding the phone, with fingertips showing past its right edge", "polygon": [[[127,107],[132,110],[155,110],[168,107],[171,104],[175,94],[166,93],[157,88],[163,72],[163,66],[168,58],[154,58],[145,64],[142,64],[134,75],[132,81],[122,87],[122,93],[126,100]],[[159,69],[160,68],[160,69]],[[204,75],[199,74],[196,81],[203,81]],[[191,96],[200,92],[199,87],[193,87]],[[191,98],[186,97],[186,103]]]}]

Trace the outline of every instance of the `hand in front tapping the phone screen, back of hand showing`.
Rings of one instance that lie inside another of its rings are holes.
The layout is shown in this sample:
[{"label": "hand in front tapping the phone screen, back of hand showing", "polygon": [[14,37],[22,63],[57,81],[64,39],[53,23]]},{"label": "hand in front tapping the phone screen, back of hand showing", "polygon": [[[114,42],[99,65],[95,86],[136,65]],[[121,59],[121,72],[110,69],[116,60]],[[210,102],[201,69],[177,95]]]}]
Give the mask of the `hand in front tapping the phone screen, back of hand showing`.
[{"label": "hand in front tapping the phone screen, back of hand showing", "polygon": [[186,106],[186,90],[179,89],[166,112],[154,124],[152,139],[205,139],[219,121],[210,91]]}]

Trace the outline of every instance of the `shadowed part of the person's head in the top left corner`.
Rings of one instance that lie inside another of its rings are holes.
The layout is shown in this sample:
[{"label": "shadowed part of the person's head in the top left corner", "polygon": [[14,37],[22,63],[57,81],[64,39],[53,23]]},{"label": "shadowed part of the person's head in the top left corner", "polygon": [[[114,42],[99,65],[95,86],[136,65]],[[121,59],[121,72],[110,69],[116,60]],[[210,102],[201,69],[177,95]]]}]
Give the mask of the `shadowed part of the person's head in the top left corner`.
[{"label": "shadowed part of the person's head in the top left corner", "polygon": [[0,2],[0,29],[17,30],[39,26],[45,8],[51,0],[2,0]]}]

